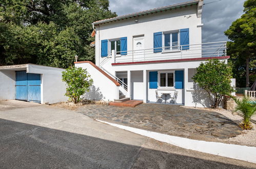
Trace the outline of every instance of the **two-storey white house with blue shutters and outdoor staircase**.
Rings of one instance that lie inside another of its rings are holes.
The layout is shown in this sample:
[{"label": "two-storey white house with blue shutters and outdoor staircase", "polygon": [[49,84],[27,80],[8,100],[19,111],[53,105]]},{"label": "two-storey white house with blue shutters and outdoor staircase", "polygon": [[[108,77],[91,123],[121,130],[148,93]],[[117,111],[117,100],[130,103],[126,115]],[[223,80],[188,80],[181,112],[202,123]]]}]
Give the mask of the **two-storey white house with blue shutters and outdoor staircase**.
[{"label": "two-storey white house with blue shutters and outdoor staircase", "polygon": [[157,92],[159,101],[169,102],[176,91],[177,103],[209,107],[206,93],[191,77],[206,59],[227,61],[229,56],[226,41],[202,44],[202,7],[203,1],[195,0],[94,22],[95,65],[112,79],[92,63],[75,62],[94,80],[97,92],[90,99],[113,101],[122,93],[156,102]]}]

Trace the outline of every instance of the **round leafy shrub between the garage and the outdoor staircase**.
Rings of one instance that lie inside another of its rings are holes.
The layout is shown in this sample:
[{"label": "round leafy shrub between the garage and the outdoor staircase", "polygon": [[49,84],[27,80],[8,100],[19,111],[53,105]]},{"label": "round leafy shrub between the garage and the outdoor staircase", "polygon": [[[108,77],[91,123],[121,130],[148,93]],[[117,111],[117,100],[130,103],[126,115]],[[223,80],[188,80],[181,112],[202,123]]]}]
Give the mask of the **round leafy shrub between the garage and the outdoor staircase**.
[{"label": "round leafy shrub between the garage and the outdoor staircase", "polygon": [[62,80],[67,83],[66,96],[74,103],[80,101],[80,97],[88,92],[93,80],[86,69],[68,68],[62,72]]}]

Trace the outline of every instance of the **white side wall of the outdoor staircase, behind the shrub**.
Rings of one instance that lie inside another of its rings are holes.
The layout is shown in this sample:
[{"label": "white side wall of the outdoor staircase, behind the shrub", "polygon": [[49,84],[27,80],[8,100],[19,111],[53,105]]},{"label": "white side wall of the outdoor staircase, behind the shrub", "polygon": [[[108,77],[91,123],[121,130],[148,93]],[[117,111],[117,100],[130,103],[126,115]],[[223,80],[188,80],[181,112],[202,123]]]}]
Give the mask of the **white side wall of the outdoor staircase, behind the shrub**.
[{"label": "white side wall of the outdoor staircase, behind the shrub", "polygon": [[114,99],[119,99],[119,86],[116,86],[113,81],[94,68],[91,64],[75,64],[75,67],[87,69],[87,72],[93,79],[93,85],[91,90],[85,94],[85,99],[104,101],[114,101]]}]

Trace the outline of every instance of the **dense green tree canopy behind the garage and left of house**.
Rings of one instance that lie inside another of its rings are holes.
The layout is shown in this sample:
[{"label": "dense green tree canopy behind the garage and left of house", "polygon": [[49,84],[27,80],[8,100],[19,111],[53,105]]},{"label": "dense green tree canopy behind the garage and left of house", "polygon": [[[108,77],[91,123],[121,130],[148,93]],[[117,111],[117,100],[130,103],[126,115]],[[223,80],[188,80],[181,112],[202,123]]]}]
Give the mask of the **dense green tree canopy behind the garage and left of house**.
[{"label": "dense green tree canopy behind the garage and left of house", "polygon": [[108,0],[0,0],[0,65],[94,61],[91,24],[116,16],[108,7]]}]

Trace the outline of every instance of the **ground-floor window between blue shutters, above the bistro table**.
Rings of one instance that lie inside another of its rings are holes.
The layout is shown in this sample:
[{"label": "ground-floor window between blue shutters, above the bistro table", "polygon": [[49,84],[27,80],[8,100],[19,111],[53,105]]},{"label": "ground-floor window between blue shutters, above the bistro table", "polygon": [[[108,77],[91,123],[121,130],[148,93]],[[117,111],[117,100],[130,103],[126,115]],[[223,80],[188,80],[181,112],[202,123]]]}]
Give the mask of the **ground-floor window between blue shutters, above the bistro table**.
[{"label": "ground-floor window between blue shutters, above the bistro table", "polygon": [[174,72],[159,72],[160,87],[174,87]]}]

